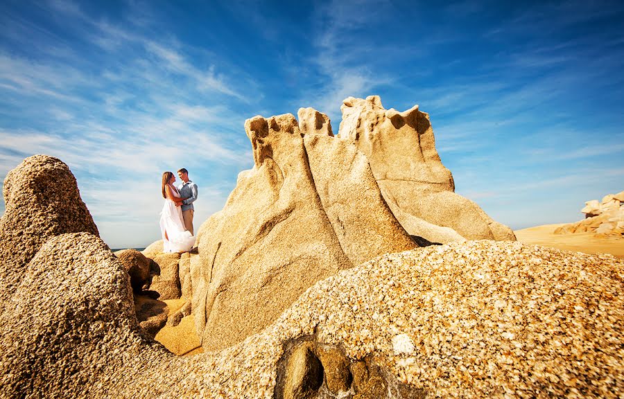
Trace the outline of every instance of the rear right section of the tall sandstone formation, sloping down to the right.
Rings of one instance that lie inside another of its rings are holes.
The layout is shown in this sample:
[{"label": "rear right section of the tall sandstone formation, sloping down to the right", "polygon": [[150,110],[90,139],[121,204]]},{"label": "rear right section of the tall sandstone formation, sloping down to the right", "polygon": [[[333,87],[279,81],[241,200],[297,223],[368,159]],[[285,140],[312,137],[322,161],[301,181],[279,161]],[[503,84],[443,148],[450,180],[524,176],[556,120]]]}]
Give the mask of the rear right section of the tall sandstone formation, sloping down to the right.
[{"label": "rear right section of the tall sandstone formation, sloping down to the right", "polygon": [[[515,240],[469,199],[456,194],[451,172],[435,150],[428,114],[384,109],[379,96],[349,97],[338,136],[368,157],[383,198],[413,236],[432,242]],[[443,227],[443,229],[441,228]]]}]

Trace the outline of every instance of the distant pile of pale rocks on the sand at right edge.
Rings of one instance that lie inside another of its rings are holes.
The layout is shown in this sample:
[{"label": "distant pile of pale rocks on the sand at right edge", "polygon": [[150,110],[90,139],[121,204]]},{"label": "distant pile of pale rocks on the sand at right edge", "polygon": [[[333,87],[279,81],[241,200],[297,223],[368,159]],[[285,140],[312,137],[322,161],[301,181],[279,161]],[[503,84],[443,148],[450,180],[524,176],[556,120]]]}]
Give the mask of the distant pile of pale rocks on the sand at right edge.
[{"label": "distant pile of pale rocks on the sand at right edge", "polygon": [[601,237],[624,237],[624,191],[605,195],[600,202],[587,201],[581,212],[585,214],[584,220],[557,227],[555,234],[593,232]]}]

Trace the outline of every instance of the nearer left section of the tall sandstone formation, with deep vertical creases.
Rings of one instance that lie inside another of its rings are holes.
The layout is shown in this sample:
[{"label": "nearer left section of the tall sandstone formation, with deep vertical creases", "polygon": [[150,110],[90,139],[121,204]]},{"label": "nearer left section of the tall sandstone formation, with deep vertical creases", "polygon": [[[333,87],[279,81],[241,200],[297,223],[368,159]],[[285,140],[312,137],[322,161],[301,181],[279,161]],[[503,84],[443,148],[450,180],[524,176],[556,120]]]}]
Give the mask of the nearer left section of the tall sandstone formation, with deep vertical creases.
[{"label": "nearer left section of the tall sandstone formation, with deep vertical creases", "polygon": [[333,137],[324,114],[299,118],[245,122],[254,168],[198,233],[193,311],[209,351],[259,332],[316,281],[416,246],[364,154]]}]

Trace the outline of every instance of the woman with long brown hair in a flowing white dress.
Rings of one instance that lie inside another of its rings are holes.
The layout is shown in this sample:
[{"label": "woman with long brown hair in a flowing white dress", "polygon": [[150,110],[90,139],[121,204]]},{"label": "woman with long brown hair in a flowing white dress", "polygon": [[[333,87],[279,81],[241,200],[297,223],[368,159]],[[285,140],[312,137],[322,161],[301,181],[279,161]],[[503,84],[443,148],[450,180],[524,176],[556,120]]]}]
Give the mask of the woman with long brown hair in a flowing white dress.
[{"label": "woman with long brown hair in a flowing white dress", "polygon": [[184,228],[180,204],[185,198],[173,186],[173,172],[162,174],[162,197],[165,199],[160,213],[160,233],[163,252],[188,252],[195,244],[195,237]]}]

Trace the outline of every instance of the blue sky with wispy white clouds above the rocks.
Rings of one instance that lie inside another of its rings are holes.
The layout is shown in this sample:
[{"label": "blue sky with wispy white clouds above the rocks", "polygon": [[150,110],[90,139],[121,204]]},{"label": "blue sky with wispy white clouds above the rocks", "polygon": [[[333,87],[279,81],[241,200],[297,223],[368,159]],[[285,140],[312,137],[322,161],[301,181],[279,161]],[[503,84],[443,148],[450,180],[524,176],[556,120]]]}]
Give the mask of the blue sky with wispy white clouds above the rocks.
[{"label": "blue sky with wispy white clouds above the rocks", "polygon": [[0,175],[59,157],[102,238],[144,247],[164,170],[198,184],[197,228],[253,166],[246,118],[315,107],[337,133],[343,98],[377,94],[430,114],[492,218],[573,222],[624,190],[623,21],[621,1],[4,0]]}]

